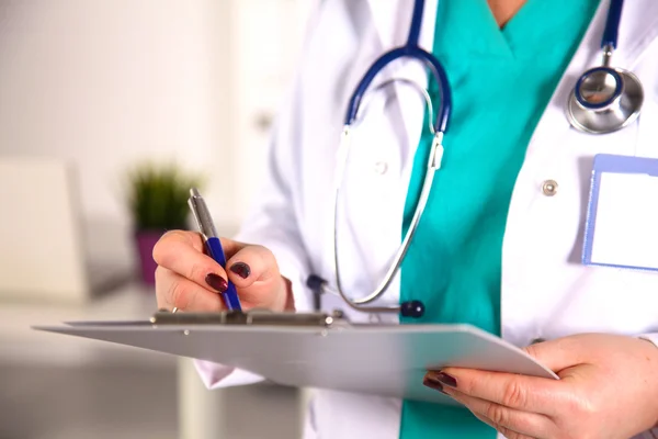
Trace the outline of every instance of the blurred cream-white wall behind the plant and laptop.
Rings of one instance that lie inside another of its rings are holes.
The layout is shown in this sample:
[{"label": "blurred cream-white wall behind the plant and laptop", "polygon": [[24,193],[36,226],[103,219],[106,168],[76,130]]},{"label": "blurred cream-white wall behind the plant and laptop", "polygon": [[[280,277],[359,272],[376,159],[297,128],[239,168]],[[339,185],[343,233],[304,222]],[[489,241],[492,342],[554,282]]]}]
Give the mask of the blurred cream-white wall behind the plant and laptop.
[{"label": "blurred cream-white wall behind the plant and laptop", "polygon": [[72,160],[84,216],[124,226],[126,166],[175,159],[212,176],[232,225],[266,138],[254,120],[280,103],[310,3],[0,0],[0,154]]}]

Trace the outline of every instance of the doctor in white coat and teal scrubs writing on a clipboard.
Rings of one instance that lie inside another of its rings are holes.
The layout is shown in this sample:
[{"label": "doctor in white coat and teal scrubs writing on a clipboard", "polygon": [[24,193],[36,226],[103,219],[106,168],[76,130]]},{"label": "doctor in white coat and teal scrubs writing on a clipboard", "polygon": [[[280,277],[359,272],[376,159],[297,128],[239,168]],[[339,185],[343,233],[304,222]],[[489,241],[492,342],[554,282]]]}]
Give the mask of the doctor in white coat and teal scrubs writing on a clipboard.
[{"label": "doctor in white coat and teal scrubs writing on a clipboard", "polygon": [[[158,305],[220,309],[217,293],[230,279],[245,307],[307,311],[311,273],[358,301],[377,290],[412,228],[400,270],[360,305],[404,312],[358,311],[339,294],[324,294],[322,306],[353,320],[477,325],[561,380],[428,371],[426,385],[457,408],[318,391],[308,438],[658,438],[658,224],[646,221],[658,192],[650,179],[610,177],[655,167],[658,157],[658,2],[626,1],[615,26],[619,7],[319,2],[263,191],[236,240],[224,239],[227,270],[203,254],[197,234],[168,233],[154,250]],[[363,100],[354,94],[384,53],[415,41],[440,68],[397,58],[371,78]],[[579,82],[602,63],[623,70]],[[427,88],[432,109],[413,85]],[[602,165],[605,154],[613,157]],[[259,379],[197,367],[213,389]]]}]

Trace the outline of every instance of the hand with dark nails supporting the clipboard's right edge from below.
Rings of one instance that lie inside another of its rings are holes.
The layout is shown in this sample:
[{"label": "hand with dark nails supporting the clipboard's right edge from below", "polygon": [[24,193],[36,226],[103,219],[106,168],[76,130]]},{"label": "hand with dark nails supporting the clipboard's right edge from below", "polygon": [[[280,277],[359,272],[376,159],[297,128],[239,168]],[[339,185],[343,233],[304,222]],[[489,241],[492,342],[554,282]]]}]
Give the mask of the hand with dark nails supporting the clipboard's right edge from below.
[{"label": "hand with dark nails supporting the clipboard's right edge from below", "polygon": [[553,381],[446,368],[426,374],[508,439],[627,439],[658,425],[658,348],[613,335],[577,335],[525,351]]}]

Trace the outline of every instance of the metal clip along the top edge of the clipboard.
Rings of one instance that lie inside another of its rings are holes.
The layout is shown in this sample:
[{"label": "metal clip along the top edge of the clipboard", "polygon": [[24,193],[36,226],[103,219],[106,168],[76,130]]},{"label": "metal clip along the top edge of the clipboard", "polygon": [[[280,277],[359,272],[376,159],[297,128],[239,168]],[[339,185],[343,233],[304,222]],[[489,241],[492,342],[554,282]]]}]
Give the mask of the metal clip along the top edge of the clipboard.
[{"label": "metal clip along the top edge of the clipboard", "polygon": [[269,309],[223,311],[219,313],[155,313],[152,325],[243,325],[243,326],[302,326],[329,328],[349,325],[340,309],[328,313],[275,313]]}]

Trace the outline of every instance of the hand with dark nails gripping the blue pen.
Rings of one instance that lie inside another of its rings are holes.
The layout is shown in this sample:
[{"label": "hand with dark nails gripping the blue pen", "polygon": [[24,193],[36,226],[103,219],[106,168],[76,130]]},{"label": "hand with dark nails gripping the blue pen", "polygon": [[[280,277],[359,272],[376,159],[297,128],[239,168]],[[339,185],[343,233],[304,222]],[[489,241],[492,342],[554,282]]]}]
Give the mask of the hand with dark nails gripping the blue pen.
[{"label": "hand with dark nails gripping the blue pen", "polygon": [[201,235],[172,230],[154,248],[158,308],[188,312],[224,309],[222,300],[230,280],[246,309],[292,308],[290,282],[279,272],[274,255],[261,246],[222,239],[228,270],[204,254]]}]

